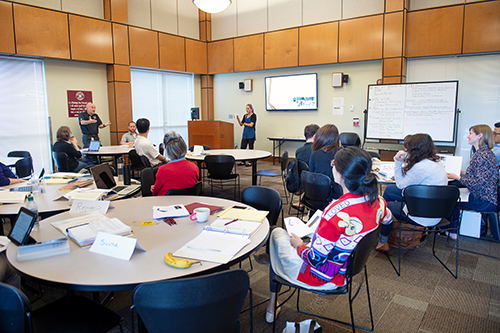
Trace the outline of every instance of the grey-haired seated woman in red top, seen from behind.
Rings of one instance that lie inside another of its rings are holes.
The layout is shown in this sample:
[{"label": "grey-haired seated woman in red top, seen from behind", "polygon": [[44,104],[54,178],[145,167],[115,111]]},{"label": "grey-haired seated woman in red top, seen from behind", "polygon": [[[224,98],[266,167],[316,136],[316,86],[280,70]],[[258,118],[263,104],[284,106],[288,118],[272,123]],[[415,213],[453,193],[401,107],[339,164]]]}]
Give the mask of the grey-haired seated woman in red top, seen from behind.
[{"label": "grey-haired seated woman in red top, seen from behind", "polygon": [[200,170],[196,164],[184,158],[187,146],[182,136],[170,131],[165,134],[163,143],[170,162],[158,169],[153,195],[166,195],[170,189],[190,188],[196,185],[200,179]]}]

